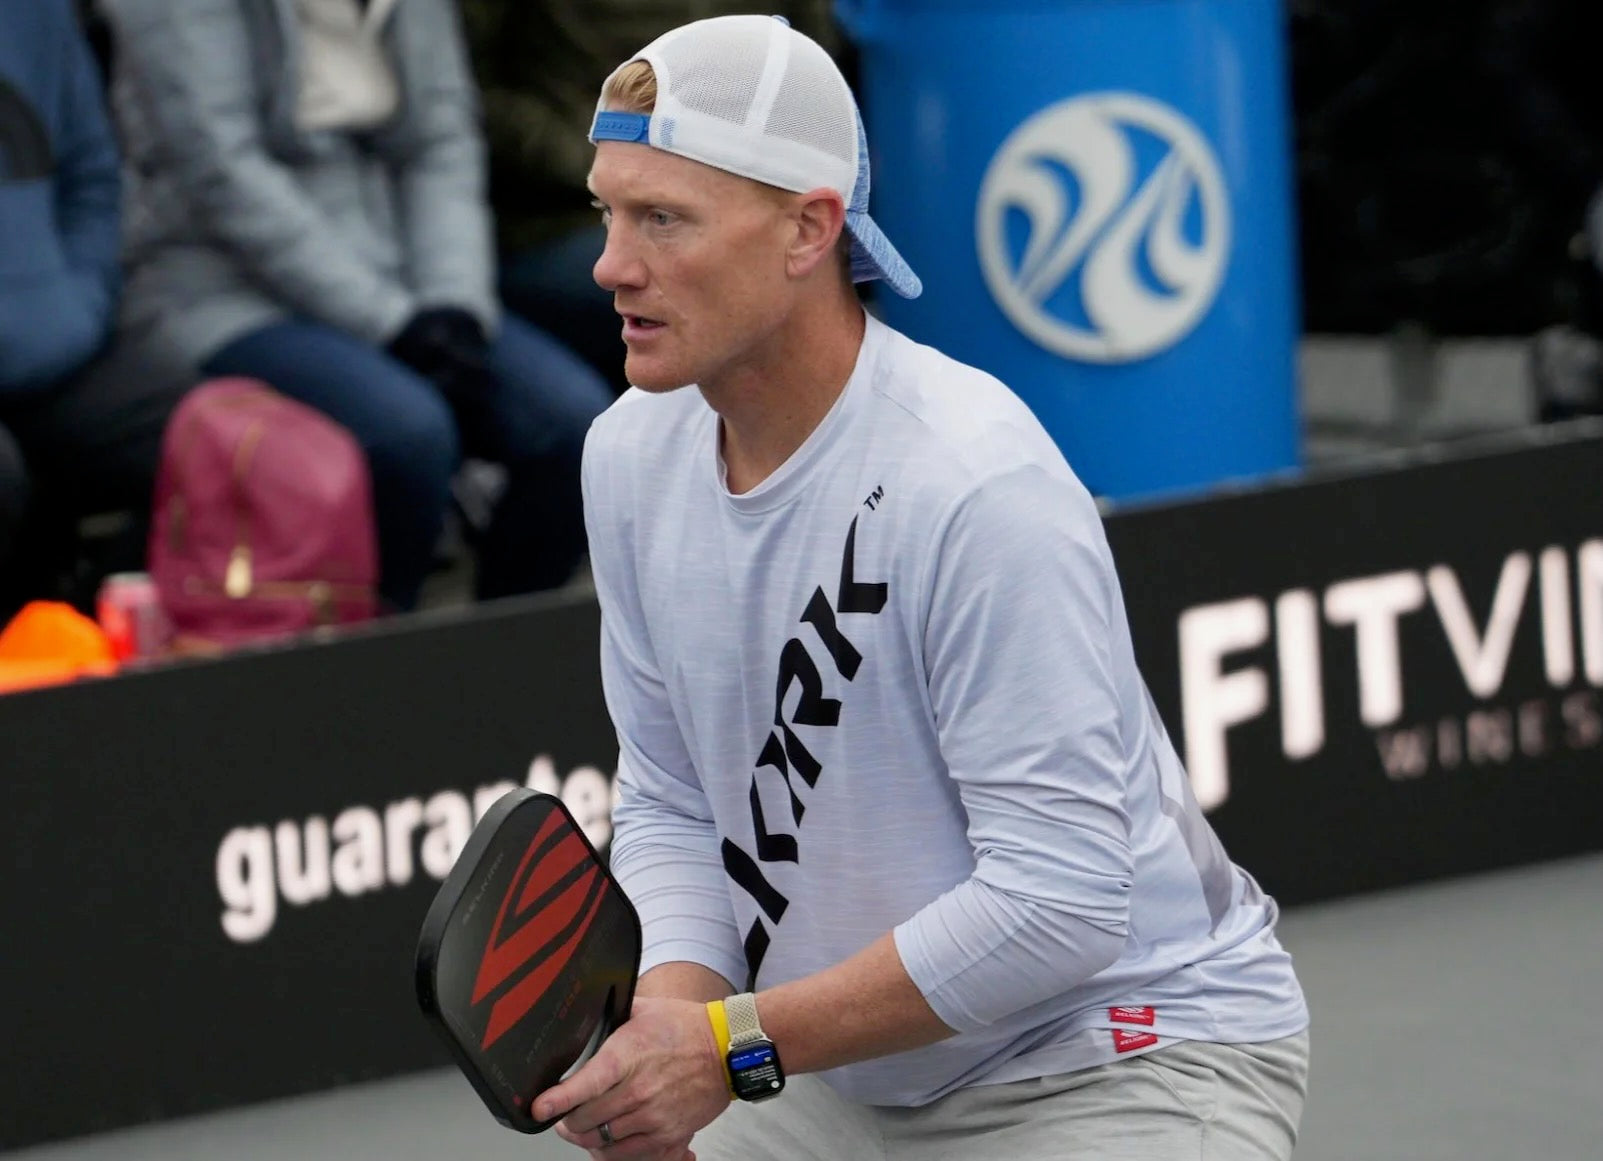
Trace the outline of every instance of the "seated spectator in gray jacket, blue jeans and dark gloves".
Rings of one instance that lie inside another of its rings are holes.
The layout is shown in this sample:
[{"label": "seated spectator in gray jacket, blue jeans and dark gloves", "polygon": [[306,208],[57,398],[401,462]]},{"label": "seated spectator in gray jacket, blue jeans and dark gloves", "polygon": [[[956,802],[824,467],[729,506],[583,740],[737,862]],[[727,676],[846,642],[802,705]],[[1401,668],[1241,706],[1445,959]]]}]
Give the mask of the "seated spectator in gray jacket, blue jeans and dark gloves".
[{"label": "seated spectator in gray jacket, blue jeans and dark gloves", "polygon": [[382,592],[410,608],[462,457],[505,468],[481,597],[583,552],[604,382],[502,318],[455,0],[103,0],[128,151],[125,322],[356,435]]}]

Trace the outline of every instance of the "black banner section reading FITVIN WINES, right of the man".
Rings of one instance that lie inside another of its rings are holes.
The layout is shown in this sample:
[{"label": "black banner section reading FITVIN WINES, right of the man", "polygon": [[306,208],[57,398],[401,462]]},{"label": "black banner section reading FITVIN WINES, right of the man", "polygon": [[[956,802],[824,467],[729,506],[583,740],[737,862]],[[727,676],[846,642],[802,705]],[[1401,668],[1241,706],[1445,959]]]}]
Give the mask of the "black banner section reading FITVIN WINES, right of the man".
[{"label": "black banner section reading FITVIN WINES, right of the man", "polygon": [[1284,903],[1603,848],[1603,438],[1125,512],[1153,694]]}]

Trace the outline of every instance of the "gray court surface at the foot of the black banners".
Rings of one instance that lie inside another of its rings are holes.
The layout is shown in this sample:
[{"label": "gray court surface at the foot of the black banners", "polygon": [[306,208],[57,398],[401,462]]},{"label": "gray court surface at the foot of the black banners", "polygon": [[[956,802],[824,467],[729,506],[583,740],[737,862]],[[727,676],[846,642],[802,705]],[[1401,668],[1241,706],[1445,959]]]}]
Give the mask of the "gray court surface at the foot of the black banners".
[{"label": "gray court surface at the foot of the black banners", "polygon": [[[1603,1158],[1603,855],[1298,908],[1281,932],[1314,1013],[1297,1161]],[[502,1129],[466,1081],[439,1071],[13,1158],[583,1155]]]}]

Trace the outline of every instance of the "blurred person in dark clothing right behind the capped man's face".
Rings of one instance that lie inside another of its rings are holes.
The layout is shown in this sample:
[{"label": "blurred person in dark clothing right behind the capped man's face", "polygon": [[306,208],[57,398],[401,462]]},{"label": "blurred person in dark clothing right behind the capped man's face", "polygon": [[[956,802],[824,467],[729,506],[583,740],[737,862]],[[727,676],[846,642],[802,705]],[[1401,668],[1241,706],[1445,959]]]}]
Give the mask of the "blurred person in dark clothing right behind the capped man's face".
[{"label": "blurred person in dark clothing right behind the capped man's face", "polygon": [[[838,51],[830,0],[758,8]],[[596,93],[619,61],[668,29],[747,11],[736,0],[463,0],[484,93],[502,295],[563,335],[614,390],[628,385],[624,342],[612,295],[590,273],[604,241],[585,188]]]}]

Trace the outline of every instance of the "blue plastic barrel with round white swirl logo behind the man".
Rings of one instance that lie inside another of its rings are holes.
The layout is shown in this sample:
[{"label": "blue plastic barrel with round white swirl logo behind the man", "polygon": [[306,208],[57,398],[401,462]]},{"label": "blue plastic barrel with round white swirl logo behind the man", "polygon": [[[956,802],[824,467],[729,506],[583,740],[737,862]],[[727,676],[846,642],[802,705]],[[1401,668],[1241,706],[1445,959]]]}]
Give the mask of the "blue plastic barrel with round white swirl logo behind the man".
[{"label": "blue plastic barrel with round white swirl logo behind the man", "polygon": [[840,0],[886,322],[1011,386],[1109,499],[1298,463],[1281,0]]}]

